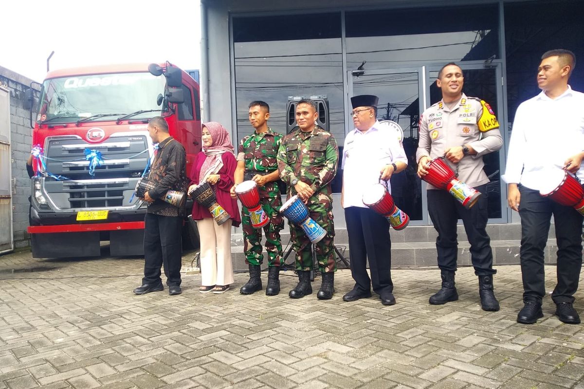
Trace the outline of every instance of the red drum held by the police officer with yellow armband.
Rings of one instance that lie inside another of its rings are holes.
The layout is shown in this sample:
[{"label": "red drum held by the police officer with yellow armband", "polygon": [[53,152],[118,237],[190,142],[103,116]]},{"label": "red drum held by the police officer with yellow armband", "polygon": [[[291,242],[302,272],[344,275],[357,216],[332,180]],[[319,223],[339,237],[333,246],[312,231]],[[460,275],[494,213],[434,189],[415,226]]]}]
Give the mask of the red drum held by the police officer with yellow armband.
[{"label": "red drum held by the police officer with yellow armband", "polygon": [[444,157],[437,157],[428,164],[428,174],[422,180],[436,188],[449,191],[460,201],[464,208],[471,208],[481,197],[481,192],[456,178],[454,171],[444,162]]}]

